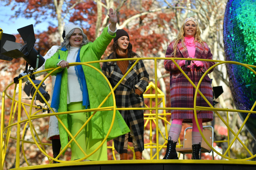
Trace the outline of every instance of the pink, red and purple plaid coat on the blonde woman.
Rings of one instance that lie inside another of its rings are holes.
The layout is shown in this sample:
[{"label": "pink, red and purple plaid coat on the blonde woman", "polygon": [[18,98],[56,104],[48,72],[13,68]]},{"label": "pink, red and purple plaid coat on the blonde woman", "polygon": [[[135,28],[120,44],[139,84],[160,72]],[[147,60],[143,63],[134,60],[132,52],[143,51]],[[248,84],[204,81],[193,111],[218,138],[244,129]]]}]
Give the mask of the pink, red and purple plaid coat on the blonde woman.
[{"label": "pink, red and purple plaid coat on the blonde woman", "polygon": [[[211,54],[210,48],[206,43],[201,45],[197,41],[195,42],[195,56],[194,58],[202,59],[212,59],[213,55]],[[173,57],[173,45],[174,41],[170,43],[167,47],[165,57]],[[185,45],[186,46],[186,45]],[[188,51],[186,48],[182,47],[181,41],[177,44],[176,56],[178,58],[187,58],[189,57]],[[181,60],[175,60],[179,64]],[[202,61],[203,67],[196,67],[195,65],[191,68],[186,67],[185,65],[181,66],[181,69],[187,74],[187,76],[194,82],[197,86],[200,78],[203,73],[213,66],[214,62]],[[165,60],[164,66],[167,71],[170,71],[170,98],[171,98],[171,107],[174,108],[193,108],[194,107],[194,92],[195,88],[191,83],[186,79],[186,77],[178,70],[175,64],[171,60]],[[213,71],[210,70],[208,73]],[[193,76],[194,74],[194,76]],[[201,82],[199,90],[206,97],[206,99],[213,104],[213,91],[211,87],[211,79],[206,75]],[[209,107],[206,101],[197,93],[197,106]],[[199,111],[197,111],[199,112]],[[183,122],[192,123],[192,118],[194,111],[188,110],[172,110],[171,119],[183,119]],[[197,118],[202,118],[203,122],[208,122],[213,120],[212,111],[200,111],[197,114]]]}]

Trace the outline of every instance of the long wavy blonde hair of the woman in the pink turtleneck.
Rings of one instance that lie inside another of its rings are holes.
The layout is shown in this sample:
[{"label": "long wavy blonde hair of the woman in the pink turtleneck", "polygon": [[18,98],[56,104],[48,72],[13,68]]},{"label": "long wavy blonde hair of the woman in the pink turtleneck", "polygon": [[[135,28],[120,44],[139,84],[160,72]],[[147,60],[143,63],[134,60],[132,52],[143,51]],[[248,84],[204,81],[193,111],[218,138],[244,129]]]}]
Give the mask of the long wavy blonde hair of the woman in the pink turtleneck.
[{"label": "long wavy blonde hair of the woman in the pink turtleneck", "polygon": [[[180,27],[180,29],[179,29],[179,33],[178,33],[178,36],[177,36],[177,38],[176,39],[174,39],[174,45],[173,45],[173,57],[177,57],[176,56],[176,50],[177,50],[177,45],[178,45],[178,43],[179,43],[179,41],[181,40],[181,43],[182,43],[182,47],[184,48],[184,49],[186,49],[186,46],[185,46],[185,44],[184,44],[184,35],[185,35],[185,33],[184,33],[184,25],[185,25],[186,23],[184,23],[183,25],[181,25],[181,27]],[[196,24],[196,23],[195,23]],[[198,41],[198,43],[200,43],[200,44],[202,44],[202,45],[204,45],[203,44],[203,40],[202,40],[202,38],[201,38],[201,31],[200,31],[200,28],[199,28],[199,24],[197,23],[197,29],[196,29],[196,32],[195,32],[195,35],[194,35],[194,42],[195,41]]]}]

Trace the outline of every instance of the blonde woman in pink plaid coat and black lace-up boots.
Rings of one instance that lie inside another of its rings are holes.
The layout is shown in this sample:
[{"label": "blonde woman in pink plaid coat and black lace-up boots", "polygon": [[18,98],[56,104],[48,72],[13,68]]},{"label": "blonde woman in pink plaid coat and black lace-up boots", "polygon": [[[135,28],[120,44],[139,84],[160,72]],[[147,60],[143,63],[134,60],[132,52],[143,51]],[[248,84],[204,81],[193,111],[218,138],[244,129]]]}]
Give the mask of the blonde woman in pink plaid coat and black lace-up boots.
[{"label": "blonde woman in pink plaid coat and black lace-up boots", "polygon": [[[177,58],[201,58],[212,59],[210,48],[202,41],[200,29],[196,19],[189,17],[183,21],[177,39],[174,39],[167,47],[165,57]],[[179,67],[197,86],[200,78],[207,69],[213,66],[214,62],[191,61],[187,64],[186,60],[175,60]],[[193,108],[195,88],[187,78],[179,71],[178,67],[171,60],[165,60],[164,66],[170,71],[170,98],[171,107],[173,108]],[[210,70],[208,73],[212,72]],[[200,84],[199,90],[206,99],[213,104],[213,91],[211,79],[206,75]],[[197,93],[197,106],[209,107],[206,101]],[[193,110],[173,110],[171,112],[171,127],[168,136],[167,150],[163,159],[178,159],[175,150],[181,133],[182,122],[193,123],[192,128],[192,159],[200,159],[202,136],[197,128]],[[202,122],[213,120],[212,111],[197,111],[199,126],[202,130]]]}]

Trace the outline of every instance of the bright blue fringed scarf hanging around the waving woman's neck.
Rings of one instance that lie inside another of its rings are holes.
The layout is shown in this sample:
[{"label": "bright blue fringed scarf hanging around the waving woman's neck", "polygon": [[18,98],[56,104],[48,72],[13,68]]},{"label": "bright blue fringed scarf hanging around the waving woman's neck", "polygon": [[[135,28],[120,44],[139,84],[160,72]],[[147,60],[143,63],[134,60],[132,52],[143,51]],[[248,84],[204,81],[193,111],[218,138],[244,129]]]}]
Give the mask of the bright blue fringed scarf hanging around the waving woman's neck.
[{"label": "bright blue fringed scarf hanging around the waving woman's neck", "polygon": [[[66,49],[66,47],[63,47],[61,50],[66,51],[67,49]],[[60,59],[60,56],[59,56],[59,59]],[[80,49],[78,50],[78,54],[77,54],[77,58],[76,58],[75,62],[81,62],[80,61]],[[82,65],[75,66],[75,74],[77,75],[78,82],[80,84],[80,89],[83,93],[83,106],[85,106],[87,109],[88,106],[90,105],[90,102],[89,102],[89,95],[88,95],[88,90],[87,90],[85,74],[83,73]],[[51,108],[55,108],[57,112],[59,109],[59,95],[60,95],[60,91],[61,91],[61,78],[62,78],[62,71],[57,73],[57,75],[56,75],[53,96],[51,99]]]}]

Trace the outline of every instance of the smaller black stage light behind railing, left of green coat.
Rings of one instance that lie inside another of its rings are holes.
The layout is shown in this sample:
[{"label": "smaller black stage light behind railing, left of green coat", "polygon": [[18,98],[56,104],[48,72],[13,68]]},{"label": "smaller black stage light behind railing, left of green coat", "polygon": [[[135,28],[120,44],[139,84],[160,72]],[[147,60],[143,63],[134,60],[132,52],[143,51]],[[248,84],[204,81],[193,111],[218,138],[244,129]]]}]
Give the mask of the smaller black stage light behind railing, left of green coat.
[{"label": "smaller black stage light behind railing, left of green coat", "polygon": [[[41,83],[41,80],[32,80],[32,81],[36,87],[38,87],[38,85]],[[41,92],[41,94],[43,95],[45,100],[49,101],[50,95],[45,91],[45,88],[46,88],[45,83],[42,83],[41,87],[39,88],[39,91]],[[30,95],[33,96],[35,93],[35,87],[30,83],[30,81],[27,81],[25,83],[23,90],[25,91],[27,96],[30,96]],[[30,98],[30,99],[32,99],[32,98]],[[35,96],[35,101],[36,100],[39,100],[41,103],[45,103],[45,101],[43,101],[42,97],[38,93]]]}]

